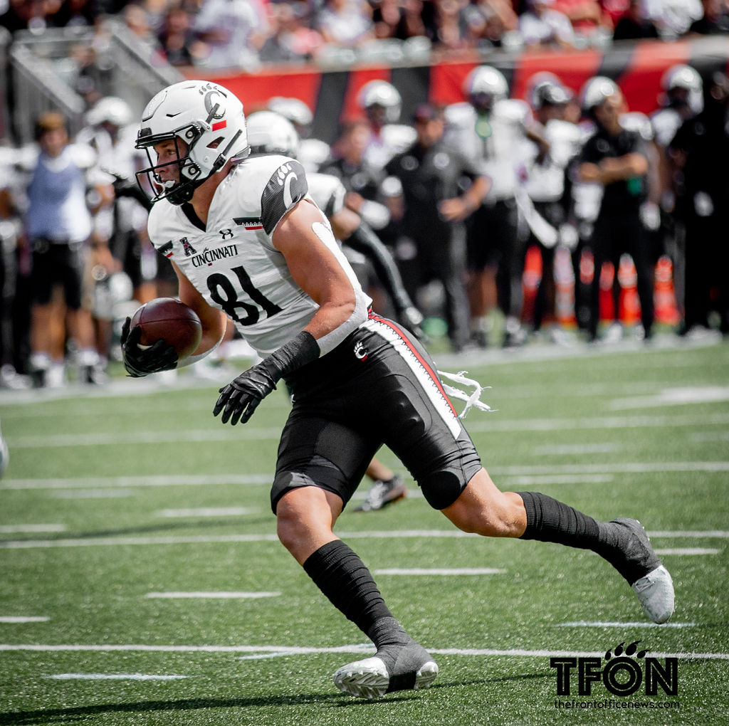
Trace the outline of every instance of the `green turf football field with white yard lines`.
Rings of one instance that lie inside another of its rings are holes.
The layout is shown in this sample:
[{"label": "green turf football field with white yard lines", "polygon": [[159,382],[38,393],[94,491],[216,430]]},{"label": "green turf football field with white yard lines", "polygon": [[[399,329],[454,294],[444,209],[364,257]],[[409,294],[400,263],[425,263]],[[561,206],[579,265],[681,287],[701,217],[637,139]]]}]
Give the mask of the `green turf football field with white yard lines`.
[{"label": "green turf football field with white yard lines", "polygon": [[[0,391],[0,724],[729,724],[729,343],[441,358],[493,386],[498,411],[467,425],[499,487],[642,520],[674,576],[668,625],[596,555],[458,536],[409,480],[408,499],[337,531],[440,675],[349,698],[332,673],[372,650],[268,505],[284,394],[231,428],[211,415],[219,384],[187,372]],[[580,695],[577,665],[558,695],[551,658],[601,670],[633,641],[634,672],[653,658],[668,674],[655,695],[644,678]]]}]

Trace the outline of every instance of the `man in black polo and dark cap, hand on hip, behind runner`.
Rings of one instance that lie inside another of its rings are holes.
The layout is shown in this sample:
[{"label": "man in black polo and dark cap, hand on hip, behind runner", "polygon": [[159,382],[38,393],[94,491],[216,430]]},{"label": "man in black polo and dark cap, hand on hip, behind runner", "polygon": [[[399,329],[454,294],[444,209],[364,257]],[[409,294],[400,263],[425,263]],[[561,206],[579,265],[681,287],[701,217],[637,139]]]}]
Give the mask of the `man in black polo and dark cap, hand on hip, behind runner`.
[{"label": "man in black polo and dark cap, hand on hip, behind runner", "polygon": [[[385,184],[397,180],[402,197],[399,231],[417,249],[408,278],[410,297],[432,280],[445,294],[448,338],[461,351],[469,338],[469,310],[465,290],[465,228],[462,222],[477,209],[489,182],[478,160],[466,157],[443,142],[445,117],[441,109],[418,106],[416,141],[385,167]],[[392,192],[387,192],[392,194]]]}]

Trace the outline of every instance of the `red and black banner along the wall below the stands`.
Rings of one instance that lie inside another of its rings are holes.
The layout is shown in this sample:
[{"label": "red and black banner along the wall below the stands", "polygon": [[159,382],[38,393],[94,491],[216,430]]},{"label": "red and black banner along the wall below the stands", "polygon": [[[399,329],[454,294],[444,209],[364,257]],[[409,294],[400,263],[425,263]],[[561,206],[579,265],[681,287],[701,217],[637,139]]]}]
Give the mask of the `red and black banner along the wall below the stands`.
[{"label": "red and black banner along the wall below the stands", "polygon": [[206,78],[233,91],[251,112],[265,106],[269,98],[284,95],[299,98],[313,114],[313,136],[332,142],[346,120],[361,115],[357,95],[373,79],[392,82],[403,98],[402,120],[407,122],[418,103],[452,104],[464,100],[463,82],[475,66],[488,63],[504,73],[513,98],[526,98],[529,79],[550,71],[579,93],[593,76],[612,78],[623,90],[628,109],[650,114],[660,101],[660,79],[676,63],[689,63],[705,78],[714,71],[727,71],[729,38],[707,36],[677,42],[620,42],[607,50],[565,52],[523,52],[507,55],[494,52],[488,61],[476,55],[440,61],[428,66],[353,66],[342,71],[321,71],[314,66],[296,69],[265,69],[257,74],[223,73],[200,69],[189,77]]}]

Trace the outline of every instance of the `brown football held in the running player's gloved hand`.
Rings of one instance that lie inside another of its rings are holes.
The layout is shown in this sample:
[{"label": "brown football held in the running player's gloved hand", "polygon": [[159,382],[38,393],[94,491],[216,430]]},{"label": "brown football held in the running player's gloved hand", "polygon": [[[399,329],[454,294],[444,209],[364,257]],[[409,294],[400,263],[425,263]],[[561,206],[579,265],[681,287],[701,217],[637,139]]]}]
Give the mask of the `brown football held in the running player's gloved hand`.
[{"label": "brown football held in the running player's gloved hand", "polygon": [[176,351],[178,358],[189,356],[200,345],[203,326],[192,308],[174,297],[156,297],[133,314],[130,329],[141,327],[140,346],[152,346],[163,339]]}]

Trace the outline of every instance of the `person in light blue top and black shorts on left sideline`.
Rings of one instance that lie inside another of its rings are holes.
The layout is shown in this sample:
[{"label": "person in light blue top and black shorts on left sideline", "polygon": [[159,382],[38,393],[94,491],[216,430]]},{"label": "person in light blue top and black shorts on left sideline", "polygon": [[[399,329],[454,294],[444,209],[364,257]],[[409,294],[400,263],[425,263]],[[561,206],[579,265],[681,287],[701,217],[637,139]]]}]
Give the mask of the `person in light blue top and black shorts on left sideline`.
[{"label": "person in light blue top and black shorts on left sideline", "polygon": [[[93,151],[69,143],[66,119],[44,112],[36,123],[39,155],[28,184],[26,235],[33,252],[31,375],[36,386],[63,385],[66,332],[76,346],[82,374],[98,363],[82,279],[91,234],[86,206],[87,171]],[[55,297],[61,288],[63,297]],[[65,311],[65,315],[64,315]],[[61,335],[55,337],[59,319]],[[92,378],[85,380],[91,382]]]}]

